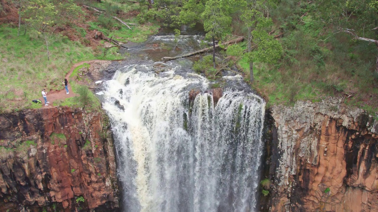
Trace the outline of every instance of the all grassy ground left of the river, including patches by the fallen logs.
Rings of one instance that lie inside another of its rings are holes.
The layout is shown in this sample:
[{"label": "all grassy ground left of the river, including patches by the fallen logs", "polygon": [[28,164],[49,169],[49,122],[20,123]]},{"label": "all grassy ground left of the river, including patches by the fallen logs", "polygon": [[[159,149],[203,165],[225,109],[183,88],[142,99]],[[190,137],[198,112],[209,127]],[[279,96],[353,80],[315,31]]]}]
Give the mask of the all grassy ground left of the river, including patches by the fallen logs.
[{"label": "all grassy ground left of the river, including patches by the fallen logs", "polygon": [[[112,0],[106,2],[119,5]],[[98,7],[101,6],[98,5]],[[138,4],[121,5],[124,13],[127,9],[136,7]],[[135,20],[131,19],[126,21],[135,23]],[[89,22],[87,30],[93,30],[92,27],[95,27],[100,31],[106,31],[107,35],[115,35],[120,41],[141,42],[158,28],[157,25],[147,23],[135,26],[130,31],[124,29],[123,25],[119,26],[117,22],[112,22],[112,24],[115,27],[105,29],[97,22]],[[61,81],[74,63],[94,59],[125,58],[125,55],[118,54],[116,47],[107,49],[99,47],[94,51],[82,45],[80,41],[64,38],[50,46],[50,61],[48,61],[46,47],[36,32],[29,30],[26,35],[17,37],[17,29],[11,26],[14,25],[0,26],[0,84],[2,85],[0,86],[0,112],[41,107],[41,104],[34,104],[31,100],[42,98],[40,97],[42,88],[62,89]],[[83,37],[85,34],[83,33]],[[77,101],[77,98],[62,102],[62,104],[74,105],[74,101]]]}]

